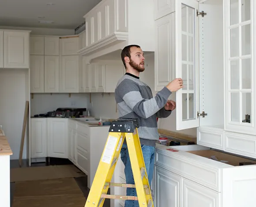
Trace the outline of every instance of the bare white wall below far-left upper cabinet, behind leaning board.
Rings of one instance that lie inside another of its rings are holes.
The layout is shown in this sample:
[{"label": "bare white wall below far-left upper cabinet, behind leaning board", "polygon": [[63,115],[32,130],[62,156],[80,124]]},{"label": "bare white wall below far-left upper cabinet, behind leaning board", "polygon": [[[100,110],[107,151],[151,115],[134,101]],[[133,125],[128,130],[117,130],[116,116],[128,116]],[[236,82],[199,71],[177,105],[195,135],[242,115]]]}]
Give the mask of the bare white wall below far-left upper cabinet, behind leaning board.
[{"label": "bare white wall below far-left upper cabinet, behind leaning board", "polygon": [[[19,159],[28,83],[28,69],[0,69],[0,125],[13,152],[11,159]],[[27,122],[23,159],[27,157],[28,129]]]}]

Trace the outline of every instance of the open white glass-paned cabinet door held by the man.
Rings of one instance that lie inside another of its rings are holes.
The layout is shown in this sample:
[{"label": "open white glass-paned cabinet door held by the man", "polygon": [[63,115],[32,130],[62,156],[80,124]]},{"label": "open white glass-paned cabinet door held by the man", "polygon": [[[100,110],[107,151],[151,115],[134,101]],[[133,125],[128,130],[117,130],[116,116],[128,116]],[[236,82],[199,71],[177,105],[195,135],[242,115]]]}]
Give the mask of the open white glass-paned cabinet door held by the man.
[{"label": "open white glass-paned cabinet door held by the man", "polygon": [[183,79],[176,92],[177,130],[199,127],[199,31],[195,0],[175,3],[175,75]]}]

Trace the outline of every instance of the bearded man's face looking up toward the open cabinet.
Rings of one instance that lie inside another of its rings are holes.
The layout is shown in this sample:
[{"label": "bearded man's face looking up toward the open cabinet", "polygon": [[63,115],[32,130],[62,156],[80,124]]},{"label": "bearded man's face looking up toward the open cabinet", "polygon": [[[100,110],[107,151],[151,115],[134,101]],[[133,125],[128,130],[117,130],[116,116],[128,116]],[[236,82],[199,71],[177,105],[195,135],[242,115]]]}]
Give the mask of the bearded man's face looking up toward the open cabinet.
[{"label": "bearded man's face looking up toward the open cabinet", "polygon": [[144,53],[141,48],[131,47],[131,58],[129,64],[132,68],[136,69],[138,72],[143,72],[145,70],[144,67]]}]

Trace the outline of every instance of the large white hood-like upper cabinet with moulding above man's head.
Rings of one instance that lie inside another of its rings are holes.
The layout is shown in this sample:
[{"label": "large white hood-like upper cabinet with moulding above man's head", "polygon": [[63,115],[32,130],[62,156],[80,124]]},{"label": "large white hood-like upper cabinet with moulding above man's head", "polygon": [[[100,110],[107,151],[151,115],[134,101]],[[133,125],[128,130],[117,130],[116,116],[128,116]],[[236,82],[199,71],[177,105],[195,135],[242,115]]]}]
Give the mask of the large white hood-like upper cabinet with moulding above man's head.
[{"label": "large white hood-like upper cabinet with moulding above man's head", "polygon": [[130,44],[154,51],[154,0],[102,0],[84,18],[86,42],[78,53],[87,62]]}]

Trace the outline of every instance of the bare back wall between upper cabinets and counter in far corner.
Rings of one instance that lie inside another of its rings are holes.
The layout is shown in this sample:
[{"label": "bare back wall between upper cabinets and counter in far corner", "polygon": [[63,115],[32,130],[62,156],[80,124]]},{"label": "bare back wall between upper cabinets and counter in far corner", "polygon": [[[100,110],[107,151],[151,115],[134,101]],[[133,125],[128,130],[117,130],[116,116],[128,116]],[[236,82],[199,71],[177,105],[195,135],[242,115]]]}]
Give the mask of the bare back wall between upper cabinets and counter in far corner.
[{"label": "bare back wall between upper cabinets and counter in far corner", "polygon": [[87,108],[89,94],[34,94],[31,98],[31,116],[39,113],[47,113],[57,108]]}]

